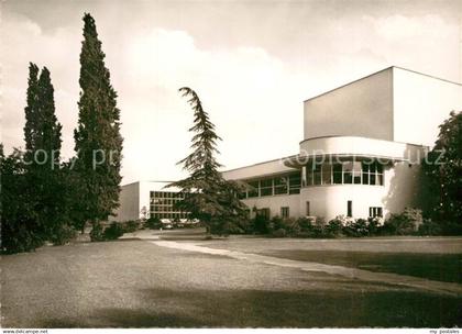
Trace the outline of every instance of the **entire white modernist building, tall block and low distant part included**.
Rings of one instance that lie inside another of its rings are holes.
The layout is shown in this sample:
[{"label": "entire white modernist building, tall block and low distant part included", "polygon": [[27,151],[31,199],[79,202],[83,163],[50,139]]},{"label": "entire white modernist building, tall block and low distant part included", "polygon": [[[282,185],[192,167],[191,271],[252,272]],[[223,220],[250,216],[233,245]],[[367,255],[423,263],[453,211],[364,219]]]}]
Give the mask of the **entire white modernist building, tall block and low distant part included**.
[{"label": "entire white modernist building, tall block and low distant part included", "polygon": [[[299,154],[227,170],[248,183],[251,214],[386,216],[418,205],[419,163],[439,124],[462,110],[462,85],[389,67],[304,102]],[[122,186],[116,220],[183,218],[166,182]]]}]

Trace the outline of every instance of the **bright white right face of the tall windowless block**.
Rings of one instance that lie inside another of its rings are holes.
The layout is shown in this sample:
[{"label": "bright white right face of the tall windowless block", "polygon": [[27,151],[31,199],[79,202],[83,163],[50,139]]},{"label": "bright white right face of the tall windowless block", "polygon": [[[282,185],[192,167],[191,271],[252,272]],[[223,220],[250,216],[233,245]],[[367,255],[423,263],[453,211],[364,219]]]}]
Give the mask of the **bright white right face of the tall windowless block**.
[{"label": "bright white right face of the tall windowless block", "polygon": [[394,140],[432,147],[438,125],[462,110],[462,85],[393,68]]}]

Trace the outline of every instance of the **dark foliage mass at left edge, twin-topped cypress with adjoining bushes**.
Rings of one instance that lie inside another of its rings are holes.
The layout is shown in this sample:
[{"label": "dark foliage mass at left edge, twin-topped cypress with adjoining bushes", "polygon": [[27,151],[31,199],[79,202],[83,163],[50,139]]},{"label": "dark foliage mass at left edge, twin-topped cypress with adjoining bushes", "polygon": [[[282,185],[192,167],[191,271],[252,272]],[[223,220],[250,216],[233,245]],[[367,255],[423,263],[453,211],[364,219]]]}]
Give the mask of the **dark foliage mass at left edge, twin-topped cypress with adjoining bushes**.
[{"label": "dark foliage mass at left edge, twin-topped cypress with adjoining bushes", "polygon": [[62,125],[55,115],[48,69],[30,64],[25,152],[2,153],[2,250],[34,249],[53,238],[66,221],[65,182],[59,170]]}]

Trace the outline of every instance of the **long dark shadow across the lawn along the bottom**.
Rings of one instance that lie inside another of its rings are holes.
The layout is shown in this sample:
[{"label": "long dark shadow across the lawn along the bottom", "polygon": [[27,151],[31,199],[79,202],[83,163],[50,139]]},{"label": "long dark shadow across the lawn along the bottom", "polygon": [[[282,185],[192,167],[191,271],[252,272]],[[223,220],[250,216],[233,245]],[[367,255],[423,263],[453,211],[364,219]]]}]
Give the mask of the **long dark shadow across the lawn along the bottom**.
[{"label": "long dark shadow across the lawn along the bottom", "polygon": [[411,291],[142,290],[142,309],[99,310],[51,327],[452,327],[462,300]]}]

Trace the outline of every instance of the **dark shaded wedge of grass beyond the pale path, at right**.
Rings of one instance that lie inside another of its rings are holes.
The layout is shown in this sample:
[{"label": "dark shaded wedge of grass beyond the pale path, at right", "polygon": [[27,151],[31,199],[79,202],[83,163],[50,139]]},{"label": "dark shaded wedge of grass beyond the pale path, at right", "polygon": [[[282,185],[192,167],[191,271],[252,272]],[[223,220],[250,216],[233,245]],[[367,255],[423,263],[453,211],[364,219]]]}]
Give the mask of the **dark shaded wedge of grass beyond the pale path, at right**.
[{"label": "dark shaded wedge of grass beyond the pale path, at right", "polygon": [[280,258],[353,267],[377,272],[462,283],[462,254],[371,253],[279,249],[261,252]]}]

